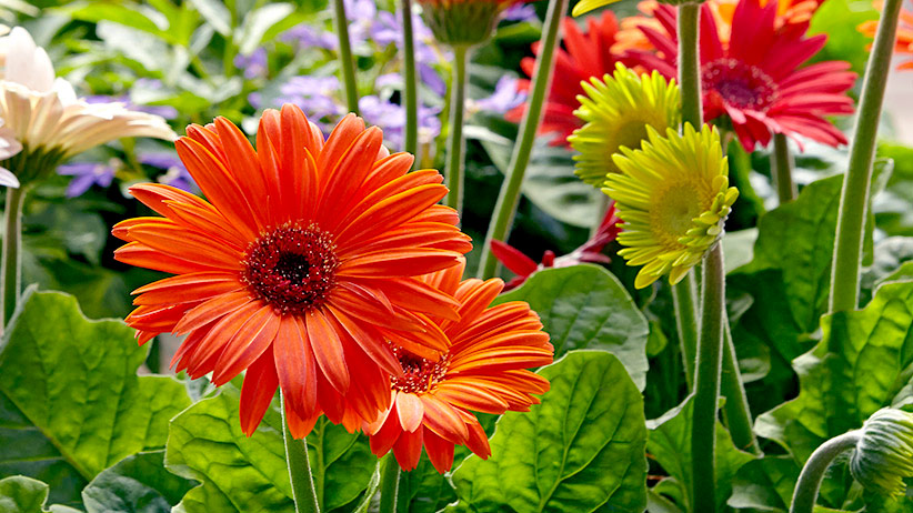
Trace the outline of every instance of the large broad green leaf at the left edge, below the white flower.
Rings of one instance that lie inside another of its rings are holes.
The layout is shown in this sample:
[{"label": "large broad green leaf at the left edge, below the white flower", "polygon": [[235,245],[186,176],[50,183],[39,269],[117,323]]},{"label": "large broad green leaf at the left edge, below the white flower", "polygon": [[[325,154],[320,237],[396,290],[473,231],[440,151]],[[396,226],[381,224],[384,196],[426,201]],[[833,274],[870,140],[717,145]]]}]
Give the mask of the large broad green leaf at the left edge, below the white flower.
[{"label": "large broad green leaf at the left edge, below the white flower", "polygon": [[122,322],[90,321],[62,293],[22,301],[0,352],[1,425],[13,428],[0,430],[0,446],[14,447],[0,467],[47,480],[52,502],[70,503],[108,466],[163,447],[168,421],[190,400],[171,378],[137,375],[147,349]]}]

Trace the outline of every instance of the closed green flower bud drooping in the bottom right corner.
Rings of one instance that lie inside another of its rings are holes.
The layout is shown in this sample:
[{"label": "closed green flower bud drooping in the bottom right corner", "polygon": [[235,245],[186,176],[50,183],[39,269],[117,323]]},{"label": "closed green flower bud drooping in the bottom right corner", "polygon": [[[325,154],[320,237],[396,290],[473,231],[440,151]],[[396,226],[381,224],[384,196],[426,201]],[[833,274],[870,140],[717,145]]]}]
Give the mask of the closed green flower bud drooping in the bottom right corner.
[{"label": "closed green flower bud drooping in the bottom right corner", "polygon": [[902,495],[904,477],[913,476],[913,414],[884,408],[862,425],[850,472],[867,490]]}]

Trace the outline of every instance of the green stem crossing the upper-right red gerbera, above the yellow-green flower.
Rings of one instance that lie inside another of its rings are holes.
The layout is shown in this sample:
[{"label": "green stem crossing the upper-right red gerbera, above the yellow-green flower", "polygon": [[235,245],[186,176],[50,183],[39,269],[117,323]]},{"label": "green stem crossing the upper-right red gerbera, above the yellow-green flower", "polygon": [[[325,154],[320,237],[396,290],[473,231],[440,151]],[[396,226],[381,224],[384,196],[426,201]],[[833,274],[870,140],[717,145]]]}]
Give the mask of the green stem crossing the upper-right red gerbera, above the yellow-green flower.
[{"label": "green stem crossing the upper-right red gerbera, above the yellow-green flower", "polygon": [[682,122],[700,130],[703,122],[701,103],[701,62],[698,48],[700,3],[679,6],[679,88],[682,91]]}]

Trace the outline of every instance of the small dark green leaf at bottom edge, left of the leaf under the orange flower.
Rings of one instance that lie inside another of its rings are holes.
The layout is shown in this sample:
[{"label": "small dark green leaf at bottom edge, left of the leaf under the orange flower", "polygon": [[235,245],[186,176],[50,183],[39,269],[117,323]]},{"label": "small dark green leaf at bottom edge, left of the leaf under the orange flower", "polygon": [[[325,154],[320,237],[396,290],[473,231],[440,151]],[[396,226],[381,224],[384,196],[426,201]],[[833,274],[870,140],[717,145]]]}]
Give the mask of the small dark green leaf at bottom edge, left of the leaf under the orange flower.
[{"label": "small dark green leaf at bottom edge, left of the leaf under the orange flower", "polygon": [[164,451],[127,456],[82,491],[88,513],[170,513],[193,482],[164,469]]}]

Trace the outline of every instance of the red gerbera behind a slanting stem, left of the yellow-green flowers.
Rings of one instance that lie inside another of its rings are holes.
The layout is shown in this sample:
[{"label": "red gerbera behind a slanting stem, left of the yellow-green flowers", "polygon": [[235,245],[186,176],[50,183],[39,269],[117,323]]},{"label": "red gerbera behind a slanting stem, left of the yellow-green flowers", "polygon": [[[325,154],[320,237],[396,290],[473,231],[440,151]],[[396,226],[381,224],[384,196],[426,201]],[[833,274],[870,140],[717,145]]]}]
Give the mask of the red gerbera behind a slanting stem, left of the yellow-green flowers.
[{"label": "red gerbera behind a slanting stem, left of the yellow-green flowers", "polygon": [[[600,17],[588,18],[586,32],[580,30],[573,18],[565,18],[562,23],[566,50],[555,49],[554,80],[549,90],[542,124],[539,125],[539,133],[558,133],[559,137],[550,142],[555,147],[568,145],[568,135],[583,125],[574,115],[574,111],[580,108],[576,97],[584,94],[580,83],[589,81],[591,77],[602,78],[605,73],[612,73],[618,61],[618,53],[612,52],[612,46],[615,44],[619,23],[612,11],[603,11]],[[539,54],[539,42],[533,43],[532,50]],[[524,58],[520,62],[520,68],[528,77],[532,77],[535,59]],[[518,83],[520,90],[526,91],[529,88],[529,80],[521,80]],[[505,118],[518,123],[523,119],[525,111],[526,104],[523,103],[508,112]]]}]

